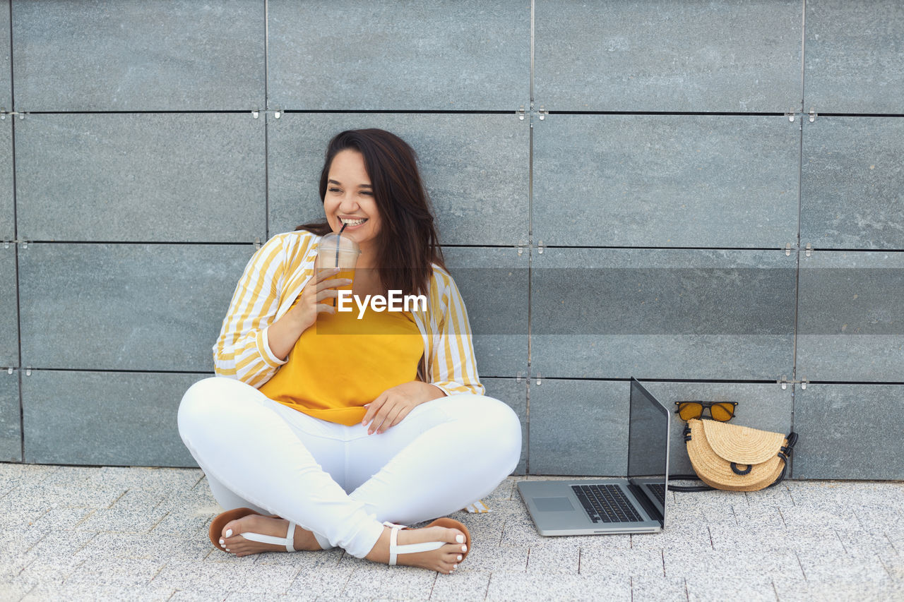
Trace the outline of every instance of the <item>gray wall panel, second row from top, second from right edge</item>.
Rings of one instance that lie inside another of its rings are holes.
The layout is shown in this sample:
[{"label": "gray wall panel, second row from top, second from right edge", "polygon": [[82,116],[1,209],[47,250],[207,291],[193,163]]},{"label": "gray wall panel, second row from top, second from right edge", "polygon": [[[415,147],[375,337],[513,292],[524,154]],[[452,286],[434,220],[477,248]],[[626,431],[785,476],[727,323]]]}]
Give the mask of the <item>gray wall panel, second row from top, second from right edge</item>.
[{"label": "gray wall panel, second row from top, second from right edge", "polygon": [[784,117],[551,115],[534,126],[533,153],[533,235],[545,244],[796,241],[800,131]]}]

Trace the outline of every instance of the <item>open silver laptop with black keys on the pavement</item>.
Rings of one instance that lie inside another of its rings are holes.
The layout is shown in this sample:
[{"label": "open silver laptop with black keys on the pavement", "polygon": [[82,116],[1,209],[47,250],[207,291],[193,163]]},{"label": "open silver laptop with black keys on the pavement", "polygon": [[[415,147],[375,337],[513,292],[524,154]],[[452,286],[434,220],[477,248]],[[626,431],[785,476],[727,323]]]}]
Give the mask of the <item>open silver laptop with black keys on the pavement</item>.
[{"label": "open silver laptop with black keys on the pavement", "polygon": [[654,533],[665,527],[670,413],[631,379],[627,477],[522,481],[518,491],[541,535]]}]

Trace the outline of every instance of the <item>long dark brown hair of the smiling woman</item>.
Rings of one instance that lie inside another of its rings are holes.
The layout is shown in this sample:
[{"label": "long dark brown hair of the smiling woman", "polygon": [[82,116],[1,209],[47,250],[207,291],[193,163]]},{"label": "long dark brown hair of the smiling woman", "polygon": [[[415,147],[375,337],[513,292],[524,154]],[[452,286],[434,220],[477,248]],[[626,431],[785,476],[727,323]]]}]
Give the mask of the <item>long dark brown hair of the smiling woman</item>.
[{"label": "long dark brown hair of the smiling woman", "polygon": [[[417,155],[399,136],[381,129],[352,129],[330,140],[320,172],[320,201],[333,158],[353,149],[364,157],[381,228],[374,240],[381,284],[404,295],[426,294],[433,273],[431,264],[445,268],[433,212],[418,171]],[[312,221],[296,230],[319,236],[333,231],[327,221]]]}]

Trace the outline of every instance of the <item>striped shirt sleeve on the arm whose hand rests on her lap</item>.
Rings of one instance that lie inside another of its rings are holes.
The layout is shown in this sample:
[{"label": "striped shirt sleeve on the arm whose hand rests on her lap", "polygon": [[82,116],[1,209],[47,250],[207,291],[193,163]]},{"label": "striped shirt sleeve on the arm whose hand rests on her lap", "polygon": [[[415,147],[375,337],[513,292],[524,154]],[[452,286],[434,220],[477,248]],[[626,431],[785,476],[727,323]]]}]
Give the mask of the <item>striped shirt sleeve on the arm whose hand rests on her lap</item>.
[{"label": "striped shirt sleeve on the arm whose hand rests on her lap", "polygon": [[[440,280],[443,280],[441,285]],[[428,360],[430,384],[447,395],[483,395],[485,389],[477,376],[471,325],[458,287],[452,277],[441,271],[436,272],[430,287],[430,298],[438,302],[435,319],[430,321],[436,328]]]}]

